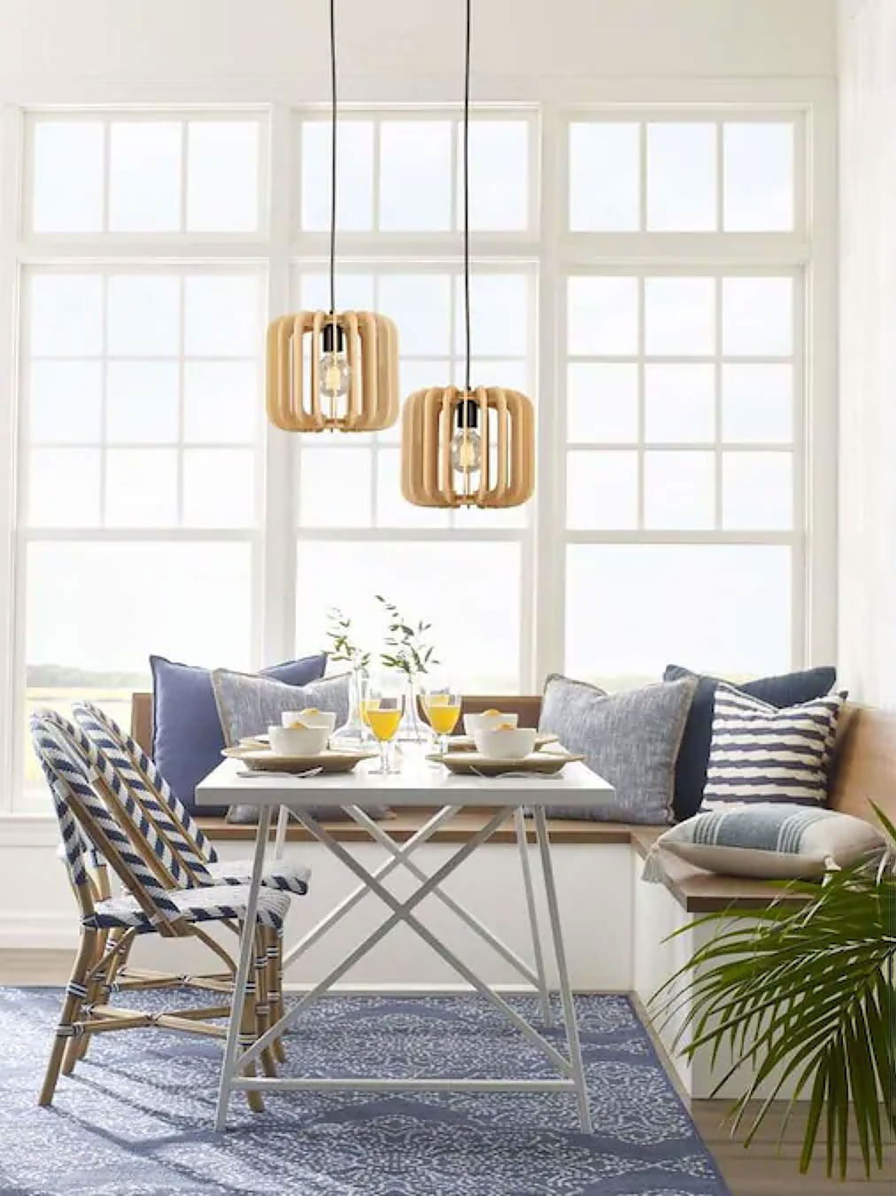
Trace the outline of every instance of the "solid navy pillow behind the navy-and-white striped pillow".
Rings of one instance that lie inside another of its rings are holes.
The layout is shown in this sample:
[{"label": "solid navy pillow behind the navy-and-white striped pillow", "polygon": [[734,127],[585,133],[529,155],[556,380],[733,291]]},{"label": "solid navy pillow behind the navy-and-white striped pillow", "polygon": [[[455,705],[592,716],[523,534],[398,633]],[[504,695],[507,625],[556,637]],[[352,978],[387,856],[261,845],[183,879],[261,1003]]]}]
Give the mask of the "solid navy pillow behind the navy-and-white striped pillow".
[{"label": "solid navy pillow behind the navy-and-white striped pillow", "polygon": [[[706,765],[712,742],[712,712],[716,706],[716,687],[723,677],[707,677],[681,665],[667,665],[663,681],[681,681],[696,677],[698,685],[691,703],[685,736],[675,763],[675,798],[673,810],[679,822],[693,818],[700,808],[706,786]],[[735,689],[779,708],[797,706],[823,697],[834,688],[836,670],[830,666],[808,669],[805,672],[781,673],[778,677],[760,677],[744,684],[725,682]]]}]

